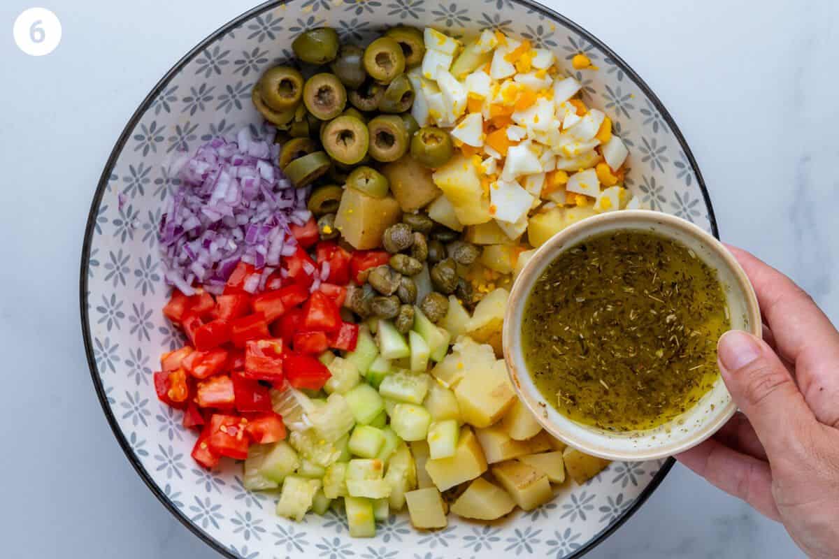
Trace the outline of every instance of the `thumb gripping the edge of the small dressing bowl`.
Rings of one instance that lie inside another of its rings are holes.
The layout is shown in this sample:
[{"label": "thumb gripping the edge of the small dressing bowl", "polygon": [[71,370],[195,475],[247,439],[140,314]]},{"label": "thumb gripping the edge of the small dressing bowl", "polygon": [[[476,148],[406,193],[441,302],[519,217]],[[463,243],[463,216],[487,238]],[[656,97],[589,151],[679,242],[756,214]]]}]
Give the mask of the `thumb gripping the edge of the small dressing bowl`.
[{"label": "thumb gripping the edge of the small dressing bowl", "polygon": [[800,435],[816,418],[769,345],[752,334],[731,330],[717,344],[717,360],[722,380],[752,423],[770,461],[800,448]]}]

